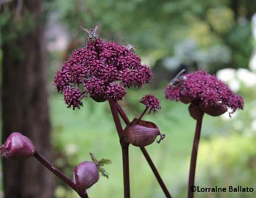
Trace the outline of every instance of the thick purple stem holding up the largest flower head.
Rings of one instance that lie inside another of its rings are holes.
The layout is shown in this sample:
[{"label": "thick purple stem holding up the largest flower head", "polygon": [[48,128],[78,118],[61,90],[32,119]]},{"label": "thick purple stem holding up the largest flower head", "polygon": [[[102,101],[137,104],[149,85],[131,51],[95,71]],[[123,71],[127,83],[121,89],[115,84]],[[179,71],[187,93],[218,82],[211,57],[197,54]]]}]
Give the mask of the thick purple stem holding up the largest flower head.
[{"label": "thick purple stem holding up the largest flower head", "polygon": [[[121,133],[123,133],[123,128],[121,126],[121,121],[118,117],[118,108],[117,103],[109,100],[110,109],[113,115],[113,120],[115,122],[115,128],[118,131],[119,139],[121,138]],[[121,143],[122,149],[122,159],[123,159],[123,175],[124,175],[124,198],[130,197],[130,188],[129,188],[129,144],[124,142]]]}]

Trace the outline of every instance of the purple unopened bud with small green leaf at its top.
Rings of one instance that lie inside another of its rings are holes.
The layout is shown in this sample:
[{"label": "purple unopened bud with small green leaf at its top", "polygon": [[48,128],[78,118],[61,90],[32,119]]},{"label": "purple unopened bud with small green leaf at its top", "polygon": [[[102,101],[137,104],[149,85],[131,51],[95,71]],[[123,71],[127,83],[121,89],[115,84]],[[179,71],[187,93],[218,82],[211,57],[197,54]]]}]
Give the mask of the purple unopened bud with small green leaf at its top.
[{"label": "purple unopened bud with small green leaf at its top", "polygon": [[86,189],[99,180],[99,170],[91,161],[78,164],[73,171],[73,180],[79,188],[79,193],[85,194]]}]

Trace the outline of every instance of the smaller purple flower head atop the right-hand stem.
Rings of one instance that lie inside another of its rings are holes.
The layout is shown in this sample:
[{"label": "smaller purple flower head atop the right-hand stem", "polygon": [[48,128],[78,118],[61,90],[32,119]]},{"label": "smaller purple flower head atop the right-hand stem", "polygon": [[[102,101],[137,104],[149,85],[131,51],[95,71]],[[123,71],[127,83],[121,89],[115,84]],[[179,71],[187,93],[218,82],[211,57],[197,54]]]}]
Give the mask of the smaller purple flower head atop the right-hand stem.
[{"label": "smaller purple flower head atop the right-hand stem", "polygon": [[235,95],[227,84],[205,71],[185,74],[185,80],[166,87],[166,98],[199,106],[201,111],[217,116],[230,109],[230,114],[243,109],[243,98]]}]

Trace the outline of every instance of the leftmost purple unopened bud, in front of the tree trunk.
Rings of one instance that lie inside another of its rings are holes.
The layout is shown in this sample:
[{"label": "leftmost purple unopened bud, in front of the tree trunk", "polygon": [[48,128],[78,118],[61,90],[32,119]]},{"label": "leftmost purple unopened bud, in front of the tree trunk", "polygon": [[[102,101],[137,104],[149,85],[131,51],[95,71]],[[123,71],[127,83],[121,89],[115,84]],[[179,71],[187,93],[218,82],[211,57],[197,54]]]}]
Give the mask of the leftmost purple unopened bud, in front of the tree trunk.
[{"label": "leftmost purple unopened bud, in front of the tree trunk", "polygon": [[1,156],[13,161],[24,161],[35,153],[31,139],[18,132],[13,132],[1,146]]}]

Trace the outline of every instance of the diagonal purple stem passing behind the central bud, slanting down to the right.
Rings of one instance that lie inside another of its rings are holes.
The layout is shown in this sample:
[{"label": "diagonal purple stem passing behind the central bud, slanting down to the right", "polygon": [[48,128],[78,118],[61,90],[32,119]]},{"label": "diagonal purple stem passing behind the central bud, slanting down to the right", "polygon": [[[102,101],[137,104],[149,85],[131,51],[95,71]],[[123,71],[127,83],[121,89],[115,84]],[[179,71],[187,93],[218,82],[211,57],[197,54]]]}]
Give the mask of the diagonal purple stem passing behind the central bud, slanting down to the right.
[{"label": "diagonal purple stem passing behind the central bud, slanting down to the right", "polygon": [[[127,117],[127,114],[125,114],[124,110],[117,104],[118,113],[121,115],[124,122],[129,125],[129,118]],[[146,112],[146,111],[145,111]],[[160,187],[163,190],[163,193],[166,195],[167,198],[171,198],[171,194],[169,193],[168,189],[166,188],[165,183],[162,180],[162,177],[160,176],[159,172],[157,171],[156,166],[154,166],[154,162],[152,161],[152,158],[150,158],[149,153],[146,151],[145,147],[140,147],[141,152],[143,153],[144,157],[146,158],[146,161],[148,162],[150,168],[152,169],[152,172],[154,173],[154,176],[157,178],[157,182],[159,183]]]}]

